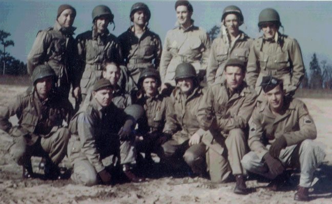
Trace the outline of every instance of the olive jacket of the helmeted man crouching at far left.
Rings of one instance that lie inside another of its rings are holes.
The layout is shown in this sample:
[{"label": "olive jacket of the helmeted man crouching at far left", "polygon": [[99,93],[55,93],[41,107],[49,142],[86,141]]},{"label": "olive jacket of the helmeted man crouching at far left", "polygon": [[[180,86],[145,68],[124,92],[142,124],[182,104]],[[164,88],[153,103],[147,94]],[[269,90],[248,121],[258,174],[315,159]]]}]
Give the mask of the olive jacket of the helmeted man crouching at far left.
[{"label": "olive jacket of the helmeted man crouching at far left", "polygon": [[[69,100],[51,92],[50,97],[41,101],[35,91],[19,94],[13,103],[0,107],[0,129],[12,136],[26,136],[27,144],[33,145],[38,136],[47,137],[64,124],[69,124],[73,107]],[[18,127],[13,128],[9,118],[16,115]]]}]

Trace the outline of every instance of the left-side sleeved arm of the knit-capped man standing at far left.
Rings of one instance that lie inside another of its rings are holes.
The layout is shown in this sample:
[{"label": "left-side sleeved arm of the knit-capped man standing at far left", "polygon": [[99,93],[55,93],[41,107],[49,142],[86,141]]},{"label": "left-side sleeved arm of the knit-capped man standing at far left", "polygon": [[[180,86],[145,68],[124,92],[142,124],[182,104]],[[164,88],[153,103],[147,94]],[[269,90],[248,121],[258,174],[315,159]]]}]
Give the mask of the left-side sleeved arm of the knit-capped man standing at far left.
[{"label": "left-side sleeved arm of the knit-capped man standing at far left", "polygon": [[37,65],[44,64],[49,44],[47,31],[39,31],[27,58],[28,74],[31,76]]}]

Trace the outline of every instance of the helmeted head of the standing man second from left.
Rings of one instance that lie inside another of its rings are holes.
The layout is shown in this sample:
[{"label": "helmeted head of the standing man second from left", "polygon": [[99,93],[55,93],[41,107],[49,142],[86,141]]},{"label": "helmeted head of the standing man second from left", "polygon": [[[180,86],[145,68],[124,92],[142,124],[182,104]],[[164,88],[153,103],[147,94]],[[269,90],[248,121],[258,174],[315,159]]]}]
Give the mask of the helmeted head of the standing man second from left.
[{"label": "helmeted head of the standing man second from left", "polygon": [[113,23],[114,15],[111,9],[105,5],[98,5],[92,10],[93,27],[98,33],[104,33],[110,23]]}]

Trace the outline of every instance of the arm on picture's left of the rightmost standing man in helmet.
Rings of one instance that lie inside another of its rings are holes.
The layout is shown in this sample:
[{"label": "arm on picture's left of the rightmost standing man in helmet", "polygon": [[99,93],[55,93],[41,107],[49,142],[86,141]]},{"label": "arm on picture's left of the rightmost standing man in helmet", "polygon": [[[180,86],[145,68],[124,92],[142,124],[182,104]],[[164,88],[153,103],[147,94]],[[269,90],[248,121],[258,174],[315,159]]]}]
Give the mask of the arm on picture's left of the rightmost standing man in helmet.
[{"label": "arm on picture's left of the rightmost standing man in helmet", "polygon": [[255,44],[256,42],[253,42],[250,46],[250,52],[248,56],[248,63],[245,74],[246,83],[251,87],[255,87],[260,72],[258,56],[259,53],[256,53],[255,51]]}]

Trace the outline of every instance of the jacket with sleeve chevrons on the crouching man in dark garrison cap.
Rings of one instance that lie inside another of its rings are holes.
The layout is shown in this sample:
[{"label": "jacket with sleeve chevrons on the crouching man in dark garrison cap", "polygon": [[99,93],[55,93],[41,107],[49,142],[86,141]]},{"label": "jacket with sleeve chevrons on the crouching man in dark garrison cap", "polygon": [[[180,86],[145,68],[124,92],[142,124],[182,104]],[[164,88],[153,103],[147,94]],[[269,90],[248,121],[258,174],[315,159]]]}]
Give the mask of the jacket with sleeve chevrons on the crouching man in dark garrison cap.
[{"label": "jacket with sleeve chevrons on the crouching man in dark garrison cap", "polygon": [[274,115],[267,101],[256,107],[249,122],[250,132],[248,145],[260,158],[268,152],[266,145],[276,138],[284,136],[287,146],[300,144],[305,139],[317,136],[313,118],[305,104],[296,98],[284,100],[281,115]]}]

